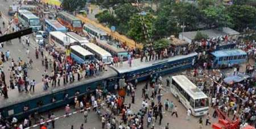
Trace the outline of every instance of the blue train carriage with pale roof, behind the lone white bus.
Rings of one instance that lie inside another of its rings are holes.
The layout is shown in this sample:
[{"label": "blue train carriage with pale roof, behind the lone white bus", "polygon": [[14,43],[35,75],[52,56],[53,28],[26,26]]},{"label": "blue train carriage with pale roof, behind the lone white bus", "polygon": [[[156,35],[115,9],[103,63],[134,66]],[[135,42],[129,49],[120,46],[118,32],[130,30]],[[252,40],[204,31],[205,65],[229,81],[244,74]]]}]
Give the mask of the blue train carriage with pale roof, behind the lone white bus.
[{"label": "blue train carriage with pale roof, behind the lone white bus", "polygon": [[132,60],[131,67],[127,61],[122,66],[111,66],[118,72],[118,77],[125,77],[126,81],[144,81],[150,78],[150,75],[165,75],[192,67],[193,60],[197,58],[197,53],[189,53],[188,55],[179,55],[169,57],[163,60],[141,62],[141,59]]}]

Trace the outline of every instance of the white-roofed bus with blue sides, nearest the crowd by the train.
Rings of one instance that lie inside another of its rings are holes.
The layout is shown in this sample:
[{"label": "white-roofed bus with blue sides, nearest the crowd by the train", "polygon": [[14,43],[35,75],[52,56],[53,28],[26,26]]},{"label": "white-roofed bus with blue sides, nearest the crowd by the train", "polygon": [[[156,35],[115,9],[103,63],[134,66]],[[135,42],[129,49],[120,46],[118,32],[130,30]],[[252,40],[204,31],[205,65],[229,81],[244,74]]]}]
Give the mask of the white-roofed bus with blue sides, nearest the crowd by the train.
[{"label": "white-roofed bus with blue sides, nearest the crowd by the train", "polygon": [[76,63],[84,64],[84,63],[90,63],[91,61],[94,61],[93,53],[82,48],[80,45],[72,45],[70,47],[70,50],[71,50],[70,56],[74,61],[76,61]]}]

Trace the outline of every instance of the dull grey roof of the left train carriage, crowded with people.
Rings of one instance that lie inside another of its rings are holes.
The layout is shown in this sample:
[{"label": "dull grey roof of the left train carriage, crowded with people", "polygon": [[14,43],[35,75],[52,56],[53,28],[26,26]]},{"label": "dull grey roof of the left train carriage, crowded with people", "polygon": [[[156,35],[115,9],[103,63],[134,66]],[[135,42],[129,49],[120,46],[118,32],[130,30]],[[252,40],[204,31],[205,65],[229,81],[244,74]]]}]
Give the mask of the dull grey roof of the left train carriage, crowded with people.
[{"label": "dull grey roof of the left train carriage, crowded with people", "polygon": [[9,92],[8,99],[4,99],[3,97],[0,97],[0,109],[7,106],[15,105],[18,103],[30,101],[32,99],[36,99],[39,97],[43,97],[45,95],[55,94],[59,91],[72,89],[72,88],[75,88],[76,86],[90,84],[92,82],[105,80],[107,78],[112,78],[117,76],[117,72],[115,72],[113,69],[109,68],[108,66],[106,66],[106,70],[107,70],[106,72],[102,72],[99,76],[85,78],[65,86],[57,86],[56,88],[53,88],[53,89],[52,89],[52,86],[49,86],[48,90],[43,90],[42,88],[43,82],[40,82],[35,86],[35,92],[31,94],[18,93],[18,90],[10,90],[8,91]]}]

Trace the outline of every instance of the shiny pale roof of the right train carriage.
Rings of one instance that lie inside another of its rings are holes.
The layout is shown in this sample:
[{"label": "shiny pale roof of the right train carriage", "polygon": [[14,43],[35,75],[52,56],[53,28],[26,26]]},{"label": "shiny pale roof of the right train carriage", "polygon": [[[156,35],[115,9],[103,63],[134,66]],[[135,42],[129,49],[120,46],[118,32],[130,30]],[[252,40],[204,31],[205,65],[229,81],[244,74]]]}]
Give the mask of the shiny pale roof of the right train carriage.
[{"label": "shiny pale roof of the right train carriage", "polygon": [[185,58],[193,57],[193,56],[197,56],[197,53],[193,52],[193,53],[189,53],[188,55],[178,55],[178,56],[169,57],[169,58],[163,59],[163,60],[149,61],[149,62],[145,62],[145,61],[141,62],[141,59],[134,59],[131,61],[131,67],[129,66],[128,62],[125,61],[123,63],[123,66],[118,66],[118,67],[111,66],[111,68],[115,69],[118,73],[126,73],[126,72],[132,72],[132,71],[138,70],[138,69],[148,68],[152,65],[158,65],[160,63],[185,59]]}]

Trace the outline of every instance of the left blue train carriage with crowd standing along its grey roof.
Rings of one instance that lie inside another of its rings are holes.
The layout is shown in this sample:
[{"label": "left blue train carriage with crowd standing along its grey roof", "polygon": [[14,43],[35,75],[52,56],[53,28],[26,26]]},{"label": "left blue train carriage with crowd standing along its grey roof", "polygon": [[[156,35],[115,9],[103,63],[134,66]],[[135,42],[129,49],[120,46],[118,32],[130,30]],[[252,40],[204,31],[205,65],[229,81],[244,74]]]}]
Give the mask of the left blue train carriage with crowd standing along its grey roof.
[{"label": "left blue train carriage with crowd standing along its grey roof", "polygon": [[[94,93],[99,86],[108,91],[114,90],[117,73],[110,68],[97,77],[86,78],[80,82],[60,86],[55,89],[42,91],[40,94],[20,94],[19,98],[9,98],[0,100],[0,111],[4,118],[24,119],[30,114],[43,113],[58,107],[63,107],[68,103],[73,103],[75,95],[82,98],[83,95]],[[65,98],[67,97],[67,98]]]}]

